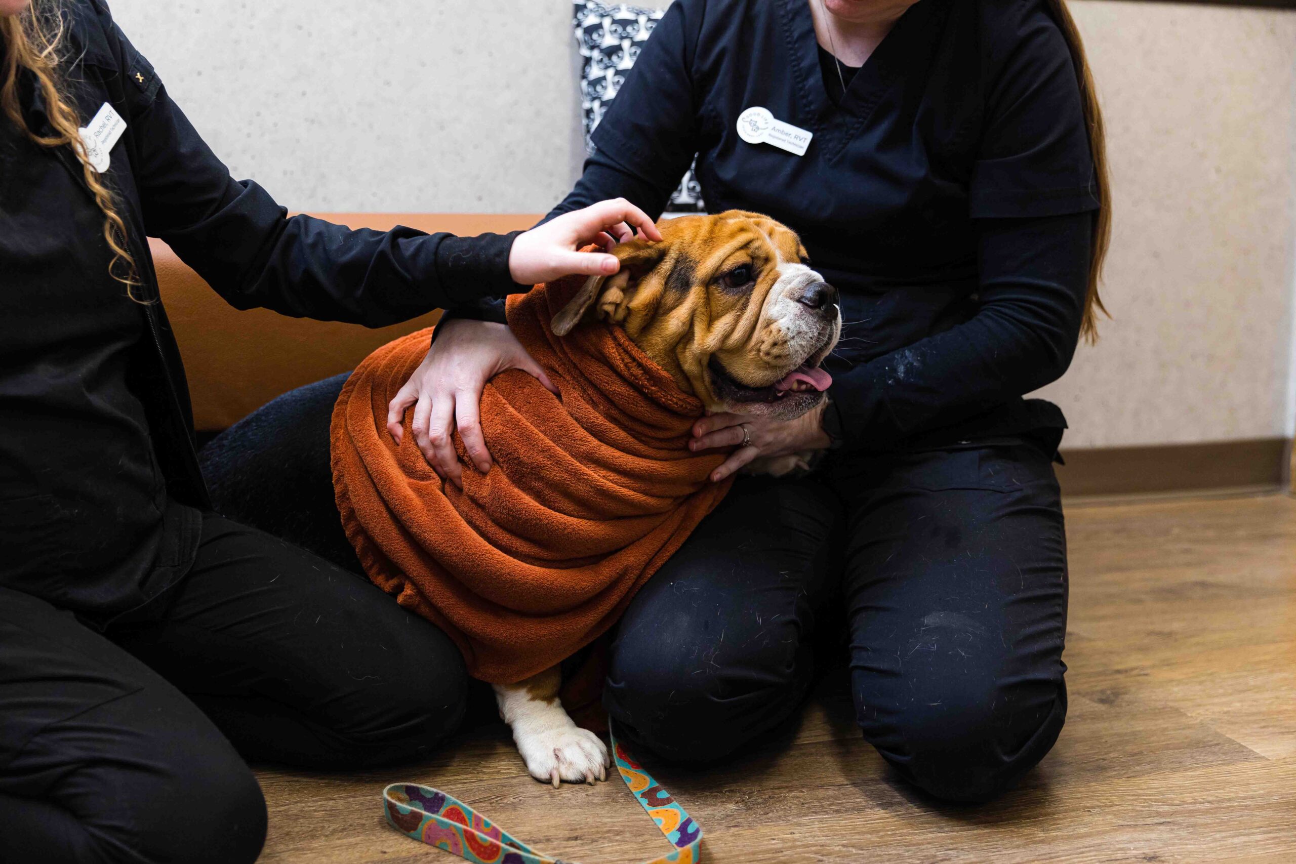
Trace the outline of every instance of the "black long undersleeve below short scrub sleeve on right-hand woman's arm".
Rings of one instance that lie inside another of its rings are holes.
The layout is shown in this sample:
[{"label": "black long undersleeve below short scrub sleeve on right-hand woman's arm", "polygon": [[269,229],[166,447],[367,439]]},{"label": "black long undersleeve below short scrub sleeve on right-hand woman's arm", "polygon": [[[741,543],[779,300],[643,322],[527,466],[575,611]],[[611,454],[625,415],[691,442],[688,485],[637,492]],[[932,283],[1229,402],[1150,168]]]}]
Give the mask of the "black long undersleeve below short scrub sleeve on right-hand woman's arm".
[{"label": "black long undersleeve below short scrub sleeve on right-hand woman's arm", "polygon": [[886,449],[1056,381],[1080,339],[1093,216],[981,219],[980,308],[829,390],[842,449]]}]

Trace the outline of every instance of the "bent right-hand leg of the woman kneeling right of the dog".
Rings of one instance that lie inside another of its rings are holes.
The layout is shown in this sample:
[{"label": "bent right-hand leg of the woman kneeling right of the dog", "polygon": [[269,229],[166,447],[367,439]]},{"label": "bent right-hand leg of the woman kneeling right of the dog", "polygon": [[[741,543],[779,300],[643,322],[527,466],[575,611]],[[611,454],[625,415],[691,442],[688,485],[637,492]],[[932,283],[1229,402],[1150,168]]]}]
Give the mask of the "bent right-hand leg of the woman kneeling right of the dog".
[{"label": "bent right-hand leg of the woman kneeling right of the dog", "polygon": [[911,782],[989,801],[1067,716],[1067,551],[1029,444],[901,459],[858,478],[846,591],[855,712]]}]

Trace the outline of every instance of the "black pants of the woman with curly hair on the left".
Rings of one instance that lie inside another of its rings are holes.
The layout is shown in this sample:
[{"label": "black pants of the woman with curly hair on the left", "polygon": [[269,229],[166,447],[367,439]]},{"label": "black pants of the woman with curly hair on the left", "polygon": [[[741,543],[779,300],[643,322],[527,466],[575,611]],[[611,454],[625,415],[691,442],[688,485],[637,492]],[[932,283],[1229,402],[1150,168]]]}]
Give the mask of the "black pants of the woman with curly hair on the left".
[{"label": "black pants of the woman with curly hair on the left", "polygon": [[0,861],[253,861],[266,804],[245,758],[416,758],[465,687],[434,626],[218,516],[191,573],[106,635],[0,589]]}]

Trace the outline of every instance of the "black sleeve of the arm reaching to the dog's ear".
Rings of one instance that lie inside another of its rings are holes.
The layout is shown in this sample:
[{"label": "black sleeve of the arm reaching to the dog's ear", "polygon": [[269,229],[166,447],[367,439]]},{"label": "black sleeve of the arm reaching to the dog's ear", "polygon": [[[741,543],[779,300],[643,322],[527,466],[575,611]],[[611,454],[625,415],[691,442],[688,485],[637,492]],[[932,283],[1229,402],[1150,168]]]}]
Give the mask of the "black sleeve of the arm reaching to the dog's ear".
[{"label": "black sleeve of the arm reaching to the dog's ear", "polygon": [[96,4],[128,84],[132,168],[145,229],[238,308],[382,326],[439,306],[525,290],[508,275],[513,234],[454,237],[288,218],[250,180],[236,181]]}]

